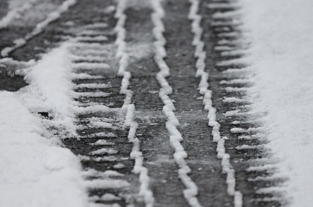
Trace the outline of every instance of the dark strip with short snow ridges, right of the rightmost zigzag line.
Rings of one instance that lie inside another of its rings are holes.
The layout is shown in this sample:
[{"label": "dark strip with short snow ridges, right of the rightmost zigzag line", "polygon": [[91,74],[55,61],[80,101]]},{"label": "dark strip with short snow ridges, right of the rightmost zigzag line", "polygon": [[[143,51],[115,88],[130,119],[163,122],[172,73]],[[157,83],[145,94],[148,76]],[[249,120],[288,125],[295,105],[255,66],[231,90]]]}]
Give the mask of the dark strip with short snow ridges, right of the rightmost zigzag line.
[{"label": "dark strip with short snow ridges, right of the rightmost zigzag line", "polygon": [[[279,185],[284,178],[275,176],[277,161],[271,159],[263,146],[267,142],[261,127],[263,115],[249,113],[245,97],[246,88],[253,85],[253,74],[245,58],[249,42],[242,31],[240,5],[234,0],[203,5],[202,14],[208,25],[205,33],[211,37],[204,40],[214,41],[211,51],[216,70],[211,70],[209,77],[211,88],[216,89],[212,100],[220,131],[228,137],[225,149],[236,170],[236,188],[243,193],[244,206],[281,206]],[[219,101],[219,97],[223,99]]]}]

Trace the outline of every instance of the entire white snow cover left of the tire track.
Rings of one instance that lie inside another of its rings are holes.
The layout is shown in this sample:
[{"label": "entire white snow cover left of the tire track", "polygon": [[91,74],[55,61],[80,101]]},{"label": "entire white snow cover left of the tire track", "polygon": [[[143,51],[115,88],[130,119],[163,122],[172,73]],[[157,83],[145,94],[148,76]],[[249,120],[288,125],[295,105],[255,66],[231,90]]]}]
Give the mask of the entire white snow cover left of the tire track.
[{"label": "entire white snow cover left of the tire track", "polygon": [[28,86],[0,92],[1,207],[87,206],[79,158],[46,131],[75,132],[70,69],[67,47],[57,48],[26,71]]}]

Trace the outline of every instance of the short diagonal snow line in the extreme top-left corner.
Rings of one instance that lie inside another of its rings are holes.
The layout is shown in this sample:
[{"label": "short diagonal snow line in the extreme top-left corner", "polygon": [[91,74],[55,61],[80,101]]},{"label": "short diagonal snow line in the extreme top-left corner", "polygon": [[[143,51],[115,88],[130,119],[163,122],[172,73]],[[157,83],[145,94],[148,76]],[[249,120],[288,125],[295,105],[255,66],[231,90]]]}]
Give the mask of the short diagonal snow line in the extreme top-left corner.
[{"label": "short diagonal snow line in the extreme top-left corner", "polygon": [[0,19],[0,29],[5,28],[9,25],[9,23],[16,18],[18,15],[30,9],[38,0],[28,0],[22,4],[21,7],[17,7],[9,11],[6,16]]}]

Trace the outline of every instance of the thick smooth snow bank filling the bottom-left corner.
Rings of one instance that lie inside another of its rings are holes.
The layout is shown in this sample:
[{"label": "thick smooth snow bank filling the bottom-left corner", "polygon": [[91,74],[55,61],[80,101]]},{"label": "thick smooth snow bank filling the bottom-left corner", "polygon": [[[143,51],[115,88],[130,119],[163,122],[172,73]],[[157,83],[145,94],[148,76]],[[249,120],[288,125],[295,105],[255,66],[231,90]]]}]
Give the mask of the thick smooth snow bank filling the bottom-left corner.
[{"label": "thick smooth snow bank filling the bottom-left corner", "polygon": [[79,159],[40,126],[14,93],[0,92],[0,206],[87,206]]}]

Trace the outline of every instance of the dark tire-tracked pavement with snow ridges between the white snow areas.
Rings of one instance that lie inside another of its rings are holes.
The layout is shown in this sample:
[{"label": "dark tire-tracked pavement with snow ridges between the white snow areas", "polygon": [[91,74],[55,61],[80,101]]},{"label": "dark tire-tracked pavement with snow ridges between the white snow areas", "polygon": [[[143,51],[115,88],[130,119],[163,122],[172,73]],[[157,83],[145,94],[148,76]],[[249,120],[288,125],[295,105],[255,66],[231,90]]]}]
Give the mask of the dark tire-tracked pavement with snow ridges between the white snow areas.
[{"label": "dark tire-tracked pavement with snow ridges between the white snow areas", "polygon": [[[62,140],[81,158],[90,206],[281,206],[266,190],[284,180],[270,177],[262,114],[245,100],[237,10],[233,0],[78,0],[39,32],[45,19],[0,29],[12,70],[70,42],[83,109]],[[0,75],[1,90],[27,85]]]}]

